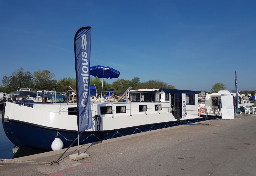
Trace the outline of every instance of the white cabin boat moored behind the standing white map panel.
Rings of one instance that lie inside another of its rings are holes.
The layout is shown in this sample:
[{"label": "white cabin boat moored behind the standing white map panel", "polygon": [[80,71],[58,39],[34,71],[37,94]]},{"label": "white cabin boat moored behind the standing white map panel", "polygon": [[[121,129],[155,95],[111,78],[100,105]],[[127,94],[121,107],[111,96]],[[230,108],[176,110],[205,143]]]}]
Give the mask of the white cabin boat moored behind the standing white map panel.
[{"label": "white cabin boat moored behind the standing white map panel", "polygon": [[[220,90],[218,93],[208,94],[206,93],[206,98],[203,104],[198,104],[199,114],[202,116],[221,116],[221,94],[232,94],[234,97],[236,94],[234,92],[229,92],[228,90]],[[253,103],[248,100],[243,100],[242,96],[238,94],[238,110],[244,112],[244,107],[253,106]]]}]

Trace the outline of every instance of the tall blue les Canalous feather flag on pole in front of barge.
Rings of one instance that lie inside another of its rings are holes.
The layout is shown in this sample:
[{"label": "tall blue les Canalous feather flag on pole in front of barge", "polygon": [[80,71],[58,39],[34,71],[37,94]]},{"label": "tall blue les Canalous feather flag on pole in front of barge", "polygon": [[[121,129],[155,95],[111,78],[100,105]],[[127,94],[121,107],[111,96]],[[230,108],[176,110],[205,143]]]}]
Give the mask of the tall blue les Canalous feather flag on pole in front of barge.
[{"label": "tall blue les Canalous feather flag on pole in front of barge", "polygon": [[78,29],[74,38],[77,98],[77,134],[93,128],[90,102],[91,27]]}]

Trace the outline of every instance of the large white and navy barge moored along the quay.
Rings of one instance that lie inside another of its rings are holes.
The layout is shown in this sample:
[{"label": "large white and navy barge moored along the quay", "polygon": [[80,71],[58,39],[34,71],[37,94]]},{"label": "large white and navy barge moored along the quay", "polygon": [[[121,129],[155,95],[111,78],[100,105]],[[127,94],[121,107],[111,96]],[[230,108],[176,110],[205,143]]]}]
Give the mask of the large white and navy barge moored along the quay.
[{"label": "large white and navy barge moored along the quay", "polygon": [[[79,141],[85,144],[165,128],[177,125],[179,119],[197,121],[201,118],[199,93],[164,88],[127,90],[122,95],[127,95],[126,102],[91,103],[93,128],[84,131]],[[51,150],[59,133],[65,148],[77,137],[76,108],[76,103],[34,104],[32,108],[6,102],[3,127],[9,140],[18,147]]]}]

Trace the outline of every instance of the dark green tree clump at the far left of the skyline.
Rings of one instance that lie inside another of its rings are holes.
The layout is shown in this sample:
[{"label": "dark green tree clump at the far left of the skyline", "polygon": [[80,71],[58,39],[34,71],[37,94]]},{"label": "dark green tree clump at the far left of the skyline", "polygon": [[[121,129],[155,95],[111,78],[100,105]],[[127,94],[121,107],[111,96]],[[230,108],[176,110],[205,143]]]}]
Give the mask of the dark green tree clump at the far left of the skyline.
[{"label": "dark green tree clump at the far left of the skyline", "polygon": [[33,76],[30,71],[18,68],[10,76],[3,75],[2,85],[7,92],[17,90],[18,87],[33,88]]}]

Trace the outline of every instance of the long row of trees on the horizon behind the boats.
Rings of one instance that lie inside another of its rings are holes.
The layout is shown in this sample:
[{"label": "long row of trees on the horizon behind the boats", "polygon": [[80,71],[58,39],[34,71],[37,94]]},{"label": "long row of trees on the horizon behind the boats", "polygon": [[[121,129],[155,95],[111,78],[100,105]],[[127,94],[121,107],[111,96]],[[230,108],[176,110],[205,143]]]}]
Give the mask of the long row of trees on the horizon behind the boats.
[{"label": "long row of trees on the horizon behind the boats", "polygon": [[[75,78],[62,78],[60,80],[54,79],[55,74],[49,70],[37,70],[33,74],[30,71],[25,71],[22,67],[16,69],[10,76],[6,74],[2,78],[2,86],[0,91],[12,92],[21,87],[35,88],[38,90],[53,90],[56,88],[57,92],[66,92],[71,86],[76,90]],[[98,77],[90,77],[90,84],[95,85],[98,91],[101,91],[102,81]],[[160,80],[149,80],[140,82],[139,77],[134,77],[132,80],[117,79],[112,84],[103,80],[103,91],[114,89],[114,91],[124,92],[129,87],[132,89],[151,89],[151,88],[168,88],[176,89],[175,86]]]}]

